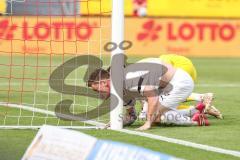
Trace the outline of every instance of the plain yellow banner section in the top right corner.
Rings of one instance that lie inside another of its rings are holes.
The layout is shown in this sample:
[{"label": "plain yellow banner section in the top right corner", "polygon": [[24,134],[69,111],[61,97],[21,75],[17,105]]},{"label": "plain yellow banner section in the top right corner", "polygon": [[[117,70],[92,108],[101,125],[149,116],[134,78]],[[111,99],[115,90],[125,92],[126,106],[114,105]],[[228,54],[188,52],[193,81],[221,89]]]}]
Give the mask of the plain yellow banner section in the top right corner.
[{"label": "plain yellow banner section in the top right corner", "polygon": [[240,17],[240,0],[147,0],[148,16]]}]

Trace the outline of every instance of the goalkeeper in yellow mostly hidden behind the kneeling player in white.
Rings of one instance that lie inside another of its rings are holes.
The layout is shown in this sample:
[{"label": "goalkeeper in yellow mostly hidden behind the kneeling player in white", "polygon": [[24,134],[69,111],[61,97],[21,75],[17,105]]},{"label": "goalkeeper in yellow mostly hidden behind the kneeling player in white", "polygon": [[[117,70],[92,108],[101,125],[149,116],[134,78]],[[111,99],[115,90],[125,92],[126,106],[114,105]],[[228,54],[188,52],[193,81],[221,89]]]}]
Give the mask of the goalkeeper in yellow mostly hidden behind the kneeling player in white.
[{"label": "goalkeeper in yellow mostly hidden behind the kneeling player in white", "polygon": [[[160,57],[161,61],[164,61],[165,63],[171,64],[175,68],[180,68],[184,71],[186,71],[193,79],[194,82],[197,80],[197,71],[192,63],[192,61],[184,56],[176,55],[176,54],[166,54],[161,55]],[[222,119],[222,114],[219,110],[217,110],[212,105],[213,100],[213,93],[205,93],[205,94],[199,94],[199,93],[192,93],[189,98],[186,101],[198,101],[200,102],[197,106],[189,106],[189,105],[180,105],[178,106],[178,110],[183,112],[183,114],[186,114],[189,112],[189,115],[193,115],[198,110],[203,110],[204,112],[210,115],[215,116],[216,118]],[[139,115],[140,119],[144,119],[146,117],[146,113],[148,110],[148,104],[146,101],[142,101],[142,112]]]}]

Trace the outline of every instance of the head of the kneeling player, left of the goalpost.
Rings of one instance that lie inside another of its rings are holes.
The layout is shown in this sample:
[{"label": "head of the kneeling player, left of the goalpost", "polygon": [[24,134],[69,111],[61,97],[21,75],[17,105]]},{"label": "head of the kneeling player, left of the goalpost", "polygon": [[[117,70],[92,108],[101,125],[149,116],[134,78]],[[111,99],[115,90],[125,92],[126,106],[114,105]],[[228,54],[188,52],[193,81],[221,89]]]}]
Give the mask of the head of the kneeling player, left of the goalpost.
[{"label": "head of the kneeling player, left of the goalpost", "polygon": [[110,96],[109,71],[102,68],[96,69],[93,73],[90,74],[87,85],[94,91],[98,91],[102,98],[108,98]]}]

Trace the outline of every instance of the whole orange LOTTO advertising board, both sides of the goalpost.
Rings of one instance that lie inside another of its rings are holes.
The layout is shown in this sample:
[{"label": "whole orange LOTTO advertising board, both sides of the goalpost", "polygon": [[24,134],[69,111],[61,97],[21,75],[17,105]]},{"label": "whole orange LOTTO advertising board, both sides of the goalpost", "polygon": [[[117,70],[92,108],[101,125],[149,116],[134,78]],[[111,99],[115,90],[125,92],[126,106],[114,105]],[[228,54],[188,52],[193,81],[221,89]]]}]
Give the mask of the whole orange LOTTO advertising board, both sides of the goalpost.
[{"label": "whole orange LOTTO advertising board, both sides of the goalpost", "polygon": [[[100,55],[110,34],[108,17],[1,17],[0,54]],[[127,55],[240,57],[240,20],[128,17],[125,39]]]}]

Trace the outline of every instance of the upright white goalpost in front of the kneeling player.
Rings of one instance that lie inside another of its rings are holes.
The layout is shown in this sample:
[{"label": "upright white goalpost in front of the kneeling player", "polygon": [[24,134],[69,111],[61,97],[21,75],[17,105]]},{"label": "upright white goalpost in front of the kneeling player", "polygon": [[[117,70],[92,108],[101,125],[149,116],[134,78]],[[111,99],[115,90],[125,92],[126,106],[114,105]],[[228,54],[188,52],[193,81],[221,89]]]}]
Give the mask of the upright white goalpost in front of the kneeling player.
[{"label": "upright white goalpost in front of the kneeling player", "polygon": [[110,126],[113,130],[123,128],[123,77],[124,52],[119,44],[124,40],[124,0],[112,0],[112,42],[117,49],[111,53],[111,101]]}]

